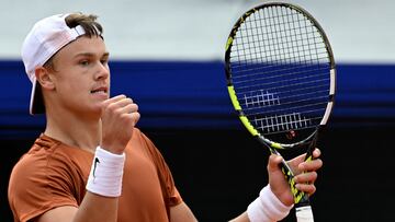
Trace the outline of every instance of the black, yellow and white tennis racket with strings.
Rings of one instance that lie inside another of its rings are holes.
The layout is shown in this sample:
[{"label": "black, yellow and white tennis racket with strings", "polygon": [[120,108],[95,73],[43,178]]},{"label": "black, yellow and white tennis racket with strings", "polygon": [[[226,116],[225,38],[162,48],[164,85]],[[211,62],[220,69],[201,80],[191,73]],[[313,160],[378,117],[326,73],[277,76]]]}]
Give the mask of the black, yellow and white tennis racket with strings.
[{"label": "black, yellow and white tennis racket with strings", "polygon": [[[271,153],[305,149],[306,161],[335,100],[336,67],[329,40],[306,10],[264,3],[242,14],[225,51],[227,89],[239,119]],[[294,195],[296,219],[314,221],[308,195],[281,164]]]}]

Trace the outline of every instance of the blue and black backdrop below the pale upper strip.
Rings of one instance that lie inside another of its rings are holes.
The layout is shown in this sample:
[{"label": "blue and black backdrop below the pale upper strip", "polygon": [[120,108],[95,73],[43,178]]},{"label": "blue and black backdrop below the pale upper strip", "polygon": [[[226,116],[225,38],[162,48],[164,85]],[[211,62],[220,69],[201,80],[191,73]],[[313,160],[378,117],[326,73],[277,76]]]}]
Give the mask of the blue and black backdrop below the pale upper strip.
[{"label": "blue and black backdrop below the pale upper strip", "polygon": [[[268,183],[269,152],[239,122],[222,61],[115,60],[110,67],[112,94],[124,93],[139,105],[138,127],[162,152],[200,221],[241,213]],[[318,144],[325,165],[312,198],[316,221],[395,218],[394,180],[387,173],[394,156],[394,72],[395,65],[337,65],[335,109]],[[19,156],[44,130],[45,118],[29,114],[31,82],[20,60],[0,61],[0,82],[1,172],[7,182]],[[289,159],[296,153],[283,154]],[[7,194],[7,183],[1,186]],[[7,196],[2,199],[1,221],[12,221]],[[294,212],[283,221],[295,221]]]}]

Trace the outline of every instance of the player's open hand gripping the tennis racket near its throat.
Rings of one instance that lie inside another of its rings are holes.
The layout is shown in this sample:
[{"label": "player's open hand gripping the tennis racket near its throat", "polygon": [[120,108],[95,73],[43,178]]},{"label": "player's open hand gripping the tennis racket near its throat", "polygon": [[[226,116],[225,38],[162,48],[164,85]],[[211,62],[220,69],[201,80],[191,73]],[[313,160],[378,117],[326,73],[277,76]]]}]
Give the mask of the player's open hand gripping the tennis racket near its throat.
[{"label": "player's open hand gripping the tennis racket near its throat", "polygon": [[[313,160],[304,162],[305,154],[292,159],[287,162],[292,171],[294,172],[294,179],[296,182],[296,188],[308,195],[313,195],[316,190],[314,182],[317,179],[317,172],[323,166],[323,161],[318,159],[320,151],[316,148],[313,152]],[[290,185],[287,184],[284,174],[281,171],[280,163],[282,157],[275,154],[271,154],[268,163],[269,184],[274,195],[285,206],[294,203],[293,195],[291,192]]]}]

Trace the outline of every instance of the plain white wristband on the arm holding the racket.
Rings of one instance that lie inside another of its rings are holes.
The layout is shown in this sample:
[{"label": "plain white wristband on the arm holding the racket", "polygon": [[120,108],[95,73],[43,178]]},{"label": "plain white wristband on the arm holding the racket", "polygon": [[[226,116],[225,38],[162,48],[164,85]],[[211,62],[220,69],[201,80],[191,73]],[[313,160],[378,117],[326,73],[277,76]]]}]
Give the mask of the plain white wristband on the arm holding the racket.
[{"label": "plain white wristband on the arm holding the racket", "polygon": [[292,208],[293,205],[284,206],[268,185],[259,192],[259,197],[248,206],[247,214],[251,222],[281,221]]}]

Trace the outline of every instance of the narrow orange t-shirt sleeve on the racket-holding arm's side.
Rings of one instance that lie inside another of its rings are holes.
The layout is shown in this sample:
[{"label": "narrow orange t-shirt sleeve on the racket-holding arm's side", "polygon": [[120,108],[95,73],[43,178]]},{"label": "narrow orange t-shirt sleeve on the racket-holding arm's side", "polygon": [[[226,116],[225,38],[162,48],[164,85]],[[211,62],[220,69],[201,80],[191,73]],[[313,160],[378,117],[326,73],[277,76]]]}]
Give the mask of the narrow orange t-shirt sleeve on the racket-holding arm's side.
[{"label": "narrow orange t-shirt sleeve on the racket-holding arm's side", "polygon": [[157,166],[158,176],[159,176],[159,179],[161,180],[162,190],[165,188],[166,192],[167,192],[165,195],[167,195],[167,198],[168,198],[167,202],[168,202],[169,207],[173,207],[173,206],[181,203],[182,197],[176,187],[171,171],[170,171],[168,164],[166,163],[162,154],[155,147],[153,141],[149,140],[149,138],[147,138],[143,132],[142,132],[142,136],[143,136],[144,140],[147,142],[149,151],[150,151],[153,159],[155,161],[155,164]]}]

